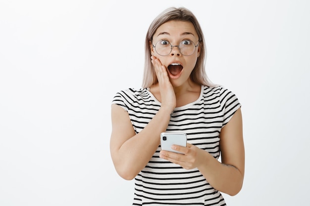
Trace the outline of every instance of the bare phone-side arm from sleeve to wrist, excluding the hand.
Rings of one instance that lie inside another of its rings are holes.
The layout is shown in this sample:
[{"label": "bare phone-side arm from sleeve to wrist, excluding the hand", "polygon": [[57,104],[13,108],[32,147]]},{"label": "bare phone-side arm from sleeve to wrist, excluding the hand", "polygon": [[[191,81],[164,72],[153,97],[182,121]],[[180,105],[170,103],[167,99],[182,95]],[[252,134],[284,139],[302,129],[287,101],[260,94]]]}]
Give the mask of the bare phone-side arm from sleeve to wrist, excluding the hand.
[{"label": "bare phone-side arm from sleeve to wrist, excluding the hand", "polygon": [[220,132],[220,150],[222,163],[208,153],[203,154],[206,164],[200,165],[199,169],[215,189],[233,196],[242,188],[245,169],[240,108]]}]

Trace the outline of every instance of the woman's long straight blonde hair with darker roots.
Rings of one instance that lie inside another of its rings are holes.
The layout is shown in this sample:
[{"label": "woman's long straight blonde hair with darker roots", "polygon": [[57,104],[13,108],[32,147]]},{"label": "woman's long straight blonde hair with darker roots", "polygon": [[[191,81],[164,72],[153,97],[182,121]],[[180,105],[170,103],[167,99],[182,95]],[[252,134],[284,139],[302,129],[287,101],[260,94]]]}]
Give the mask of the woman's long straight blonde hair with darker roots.
[{"label": "woman's long straight blonde hair with darker roots", "polygon": [[188,10],[187,8],[180,7],[170,7],[164,10],[161,14],[159,14],[154,21],[151,23],[148,33],[146,35],[145,39],[145,65],[144,65],[144,76],[143,76],[143,82],[142,87],[147,88],[151,85],[158,82],[155,70],[153,67],[153,64],[151,62],[151,48],[150,48],[150,41],[152,41],[153,36],[162,24],[171,21],[171,20],[177,20],[177,21],[189,21],[191,22],[198,34],[199,42],[200,42],[200,55],[197,59],[196,65],[190,75],[190,78],[193,82],[196,82],[201,85],[207,85],[210,87],[213,87],[214,84],[212,84],[208,78],[205,71],[205,57],[206,57],[206,46],[205,46],[205,38],[202,32],[202,29],[199,25],[198,20],[194,16],[194,14]]}]

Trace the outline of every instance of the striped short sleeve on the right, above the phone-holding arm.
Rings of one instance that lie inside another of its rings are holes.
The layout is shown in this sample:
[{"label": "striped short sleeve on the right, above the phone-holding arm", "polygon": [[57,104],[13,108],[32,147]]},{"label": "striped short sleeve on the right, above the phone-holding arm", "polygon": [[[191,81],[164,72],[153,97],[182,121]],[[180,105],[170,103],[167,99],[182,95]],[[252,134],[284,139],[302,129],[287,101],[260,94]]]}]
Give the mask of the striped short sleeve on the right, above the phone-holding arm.
[{"label": "striped short sleeve on the right, above the phone-holding arm", "polygon": [[222,124],[223,127],[230,121],[235,112],[241,107],[241,104],[233,92],[225,88],[221,88],[221,90],[220,103],[224,113]]}]

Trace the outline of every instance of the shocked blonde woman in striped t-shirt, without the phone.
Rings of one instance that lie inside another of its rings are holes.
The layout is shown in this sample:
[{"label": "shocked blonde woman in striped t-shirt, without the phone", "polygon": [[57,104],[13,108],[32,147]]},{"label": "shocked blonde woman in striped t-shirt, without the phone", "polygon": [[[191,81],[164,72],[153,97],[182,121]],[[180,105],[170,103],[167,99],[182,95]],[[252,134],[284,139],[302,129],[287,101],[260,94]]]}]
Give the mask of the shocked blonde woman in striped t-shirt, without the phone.
[{"label": "shocked blonde woman in striped t-shirt, without the phone", "polygon": [[[133,205],[226,205],[244,178],[237,97],[205,74],[205,41],[191,11],[168,8],[146,37],[143,88],[118,92],[110,152],[117,173],[135,178]],[[183,154],[161,151],[161,132],[184,132]],[[221,162],[218,158],[221,154]]]}]

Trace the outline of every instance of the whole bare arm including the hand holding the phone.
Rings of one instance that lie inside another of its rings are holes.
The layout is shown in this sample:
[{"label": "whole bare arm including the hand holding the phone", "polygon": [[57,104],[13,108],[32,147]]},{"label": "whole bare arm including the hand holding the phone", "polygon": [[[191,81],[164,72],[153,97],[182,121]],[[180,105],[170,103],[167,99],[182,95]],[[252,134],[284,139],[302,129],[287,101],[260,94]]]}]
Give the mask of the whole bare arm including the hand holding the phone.
[{"label": "whole bare arm including the hand holding the phone", "polygon": [[197,167],[216,190],[231,196],[241,190],[245,167],[241,109],[235,112],[220,132],[222,163],[191,144],[187,144],[187,147],[176,145],[173,149],[185,155],[161,151],[160,157],[186,169]]}]

